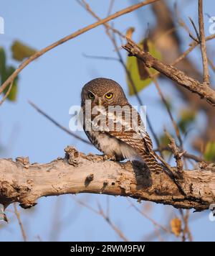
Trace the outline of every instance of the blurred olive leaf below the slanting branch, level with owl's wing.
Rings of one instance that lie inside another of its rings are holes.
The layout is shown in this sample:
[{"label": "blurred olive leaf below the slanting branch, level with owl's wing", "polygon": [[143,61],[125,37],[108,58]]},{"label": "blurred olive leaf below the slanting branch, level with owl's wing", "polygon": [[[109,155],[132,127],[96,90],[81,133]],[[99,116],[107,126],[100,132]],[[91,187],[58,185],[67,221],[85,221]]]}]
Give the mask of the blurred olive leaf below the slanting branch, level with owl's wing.
[{"label": "blurred olive leaf below the slanting branch, level with owl's wing", "polygon": [[188,129],[188,126],[196,119],[196,111],[190,109],[181,110],[181,118],[178,121],[178,127],[184,133]]}]

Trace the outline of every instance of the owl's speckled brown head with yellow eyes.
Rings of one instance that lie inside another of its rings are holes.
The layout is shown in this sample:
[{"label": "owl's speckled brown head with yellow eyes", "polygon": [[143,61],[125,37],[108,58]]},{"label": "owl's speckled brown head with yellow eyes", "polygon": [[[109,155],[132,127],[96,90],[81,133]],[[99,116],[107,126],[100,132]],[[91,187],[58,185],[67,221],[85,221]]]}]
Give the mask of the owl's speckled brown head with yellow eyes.
[{"label": "owl's speckled brown head with yellow eyes", "polygon": [[95,78],[82,88],[82,106],[91,100],[92,106],[116,106],[128,104],[123,88],[108,78]]}]

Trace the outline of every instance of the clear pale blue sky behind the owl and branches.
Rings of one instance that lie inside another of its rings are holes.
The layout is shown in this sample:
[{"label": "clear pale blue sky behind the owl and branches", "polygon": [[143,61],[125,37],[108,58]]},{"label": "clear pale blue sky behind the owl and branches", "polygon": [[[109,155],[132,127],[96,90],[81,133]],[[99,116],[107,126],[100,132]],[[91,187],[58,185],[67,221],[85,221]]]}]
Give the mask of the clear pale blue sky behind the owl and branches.
[{"label": "clear pale blue sky behind the owl and branches", "polygon": [[[136,1],[115,1],[113,12],[134,2]],[[196,21],[197,1],[191,1],[188,4],[186,2],[178,1],[182,17],[187,22],[188,16]],[[215,16],[215,13],[214,15],[211,13],[214,9],[214,6],[211,8],[211,1],[204,2],[206,2],[205,12]],[[99,0],[89,1],[89,3],[100,17],[105,17],[109,0],[102,1],[102,4]],[[5,35],[0,35],[0,46],[4,46],[8,52],[8,63],[16,66],[19,63],[11,59],[9,50],[14,40],[22,40],[39,50],[95,21],[75,0],[0,0],[0,6],[0,16],[4,17],[5,21]],[[151,10],[145,7],[116,19],[114,24],[123,32],[128,27],[135,27],[134,39],[138,41],[143,36],[148,22],[153,26],[154,18]],[[206,24],[206,28],[208,26],[209,24]],[[183,30],[181,35],[188,38]],[[185,40],[186,44],[183,45],[185,49],[188,42],[190,42],[189,39]],[[63,156],[67,145],[75,145],[78,150],[85,153],[98,153],[94,147],[87,146],[62,132],[28,104],[28,100],[33,101],[58,122],[68,127],[69,108],[72,104],[80,104],[80,90],[92,78],[100,76],[113,78],[123,86],[128,95],[125,73],[119,63],[87,59],[83,53],[115,57],[113,46],[105,35],[103,27],[97,27],[60,45],[22,71],[19,76],[19,94],[16,103],[6,101],[0,109],[0,142],[1,147],[4,147],[4,150],[1,150],[1,157],[28,155],[32,163],[46,163],[58,156]],[[196,63],[197,60],[200,63],[200,55],[196,53],[198,51],[191,56],[196,59]],[[123,55],[126,56],[125,52]],[[168,83],[162,84],[162,88],[170,98],[175,93]],[[177,93],[174,95],[178,97]],[[140,93],[140,96],[147,106],[148,115],[151,116],[156,132],[161,132],[164,125],[171,127],[165,109],[159,104],[160,99],[156,88],[149,86]],[[135,97],[130,97],[129,100],[137,105]],[[174,98],[174,101],[176,105],[181,103],[180,99]],[[174,114],[176,115],[177,111]],[[197,131],[201,129],[201,118],[196,122],[195,128]],[[83,132],[80,134],[85,137]],[[109,201],[111,219],[131,241],[143,240],[145,236],[154,232],[153,224],[132,209],[126,198],[82,194],[41,198],[33,209],[24,211],[19,208],[28,239],[37,241],[39,236],[43,241],[119,240],[118,235],[102,217],[79,206],[75,203],[74,197],[87,201],[95,208],[97,201],[104,209]],[[166,224],[168,216],[178,214],[178,211],[171,206],[138,204],[135,200],[132,201],[140,208],[151,206],[148,214],[161,224]],[[13,210],[13,207],[10,206],[9,210]],[[22,240],[16,218],[13,214],[8,214],[11,223],[0,222],[0,241]],[[215,222],[209,221],[208,214],[208,212],[191,213],[191,219],[194,219],[191,221],[191,232],[196,241],[214,240]],[[163,238],[166,239],[165,236]]]}]

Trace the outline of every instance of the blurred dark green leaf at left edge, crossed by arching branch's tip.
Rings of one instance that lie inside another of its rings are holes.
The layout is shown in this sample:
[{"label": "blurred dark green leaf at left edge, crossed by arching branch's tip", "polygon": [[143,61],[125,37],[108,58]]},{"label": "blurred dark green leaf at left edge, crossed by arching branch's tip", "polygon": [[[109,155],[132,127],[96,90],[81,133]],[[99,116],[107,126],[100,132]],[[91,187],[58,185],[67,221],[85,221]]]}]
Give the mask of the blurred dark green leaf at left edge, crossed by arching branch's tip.
[{"label": "blurred dark green leaf at left edge, crossed by arching branch's tip", "polygon": [[[1,83],[4,83],[9,76],[11,76],[12,73],[14,73],[15,68],[12,66],[6,67],[4,76],[1,76]],[[14,83],[12,85],[11,91],[9,95],[7,96],[6,99],[9,99],[9,101],[16,101],[16,96],[17,96],[17,82],[18,82],[18,77],[14,79]],[[6,91],[9,89],[9,86],[4,90],[4,94]]]}]

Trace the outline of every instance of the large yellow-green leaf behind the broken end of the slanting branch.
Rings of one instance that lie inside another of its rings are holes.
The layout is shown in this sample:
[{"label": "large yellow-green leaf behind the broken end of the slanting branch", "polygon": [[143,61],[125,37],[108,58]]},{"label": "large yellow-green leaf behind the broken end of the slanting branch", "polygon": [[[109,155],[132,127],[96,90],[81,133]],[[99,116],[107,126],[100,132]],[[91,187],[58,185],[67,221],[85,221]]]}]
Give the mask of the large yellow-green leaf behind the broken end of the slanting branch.
[{"label": "large yellow-green leaf behind the broken end of the slanting branch", "polygon": [[[143,45],[145,45],[144,40],[142,40],[138,44],[138,46],[141,49],[143,49]],[[153,57],[157,58],[158,60],[161,60],[161,52],[158,52],[158,50],[156,50],[156,46],[153,44],[153,42],[148,41],[147,45],[148,45],[148,51],[151,53],[151,55],[153,55]],[[139,91],[142,91],[143,88],[145,88],[146,86],[148,86],[152,82],[151,78],[148,78],[148,76],[145,76],[145,74],[144,74],[145,71],[143,71],[143,70],[148,69],[146,66],[144,67],[144,65],[145,64],[143,62],[138,61],[138,58],[135,58],[134,56],[127,58],[126,67],[128,69],[128,72],[130,73],[130,78],[132,78],[132,80],[135,84],[135,88],[136,88],[137,93]],[[148,70],[150,70],[150,73],[152,75],[157,72],[153,68],[149,68]],[[129,78],[129,76],[127,76],[129,95],[134,95],[135,90],[134,90],[133,85],[130,81],[130,78]]]}]

